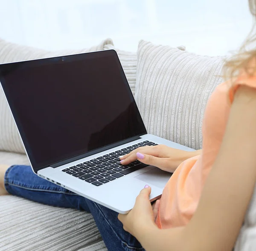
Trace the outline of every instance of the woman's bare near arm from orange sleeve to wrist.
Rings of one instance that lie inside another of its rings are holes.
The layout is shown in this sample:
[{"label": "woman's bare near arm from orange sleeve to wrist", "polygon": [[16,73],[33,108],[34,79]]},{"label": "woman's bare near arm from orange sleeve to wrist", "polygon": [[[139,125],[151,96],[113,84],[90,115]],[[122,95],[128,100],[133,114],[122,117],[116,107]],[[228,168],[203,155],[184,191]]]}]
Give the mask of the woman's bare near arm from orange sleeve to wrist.
[{"label": "woman's bare near arm from orange sleeve to wrist", "polygon": [[221,149],[198,209],[186,227],[136,237],[147,251],[230,251],[235,245],[256,183],[256,90],[236,92]]}]

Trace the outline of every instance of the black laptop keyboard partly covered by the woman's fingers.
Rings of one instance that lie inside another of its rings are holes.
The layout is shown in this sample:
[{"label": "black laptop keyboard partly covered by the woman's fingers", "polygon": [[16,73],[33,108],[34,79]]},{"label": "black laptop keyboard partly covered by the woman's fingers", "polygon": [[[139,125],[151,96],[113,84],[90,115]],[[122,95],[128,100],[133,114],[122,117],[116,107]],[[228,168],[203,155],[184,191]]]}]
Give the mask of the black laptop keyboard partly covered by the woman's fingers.
[{"label": "black laptop keyboard partly covered by the woman's fingers", "polygon": [[111,152],[110,154],[105,154],[96,159],[73,165],[61,171],[93,185],[103,185],[145,167],[146,165],[138,160],[128,165],[122,165],[119,157],[130,153],[140,146],[146,145],[157,144],[146,140],[138,144],[122,148],[121,150]]}]

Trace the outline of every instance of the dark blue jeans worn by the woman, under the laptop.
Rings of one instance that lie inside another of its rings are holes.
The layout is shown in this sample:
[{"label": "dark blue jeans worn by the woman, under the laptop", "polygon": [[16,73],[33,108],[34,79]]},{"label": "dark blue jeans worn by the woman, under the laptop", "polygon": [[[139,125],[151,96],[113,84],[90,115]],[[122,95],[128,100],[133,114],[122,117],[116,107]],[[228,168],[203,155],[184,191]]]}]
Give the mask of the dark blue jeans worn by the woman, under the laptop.
[{"label": "dark blue jeans worn by the woman, under the laptop", "polygon": [[90,212],[109,251],[144,251],[137,239],[123,229],[117,219],[118,213],[38,177],[30,166],[11,166],[6,171],[4,183],[9,194],[47,205]]}]

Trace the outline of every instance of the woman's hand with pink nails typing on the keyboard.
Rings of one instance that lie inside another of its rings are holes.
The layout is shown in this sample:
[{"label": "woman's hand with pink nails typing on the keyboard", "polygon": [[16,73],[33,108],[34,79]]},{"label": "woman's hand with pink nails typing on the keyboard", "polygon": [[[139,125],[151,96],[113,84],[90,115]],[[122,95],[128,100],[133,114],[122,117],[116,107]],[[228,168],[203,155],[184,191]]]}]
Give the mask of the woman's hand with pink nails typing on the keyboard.
[{"label": "woman's hand with pink nails typing on the keyboard", "polygon": [[138,159],[142,163],[154,165],[163,171],[174,172],[184,160],[199,154],[201,150],[184,151],[166,145],[153,145],[139,147],[120,157],[120,160],[122,165],[128,165]]}]

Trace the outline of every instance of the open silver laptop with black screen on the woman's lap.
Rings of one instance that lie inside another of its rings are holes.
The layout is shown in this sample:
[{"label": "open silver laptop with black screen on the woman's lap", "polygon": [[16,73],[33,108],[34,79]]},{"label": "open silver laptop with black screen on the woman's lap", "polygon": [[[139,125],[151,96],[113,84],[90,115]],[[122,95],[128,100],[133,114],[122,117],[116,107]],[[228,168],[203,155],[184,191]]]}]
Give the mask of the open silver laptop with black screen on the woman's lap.
[{"label": "open silver laptop with black screen on the woman's lap", "polygon": [[147,133],[114,50],[0,64],[0,83],[35,174],[116,212],[145,184],[156,200],[172,175],[120,156],[157,144],[193,151]]}]

